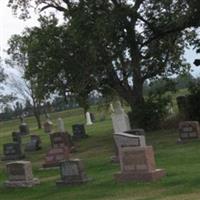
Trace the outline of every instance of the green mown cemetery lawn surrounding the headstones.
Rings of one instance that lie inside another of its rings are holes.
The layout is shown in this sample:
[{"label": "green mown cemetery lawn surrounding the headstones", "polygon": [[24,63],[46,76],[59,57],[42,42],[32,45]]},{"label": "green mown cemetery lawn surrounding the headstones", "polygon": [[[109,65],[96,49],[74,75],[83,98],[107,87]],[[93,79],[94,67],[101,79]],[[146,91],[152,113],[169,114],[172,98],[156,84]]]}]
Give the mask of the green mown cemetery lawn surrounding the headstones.
[{"label": "green mown cemetery lawn surrounding the headstones", "polygon": [[[95,112],[95,111],[94,111]],[[64,117],[65,127],[72,132],[71,126],[83,123],[80,109],[51,115],[52,120]],[[153,145],[158,168],[164,168],[167,176],[152,183],[129,182],[116,183],[113,174],[120,170],[118,164],[110,162],[114,154],[112,124],[109,115],[105,121],[99,121],[86,127],[90,136],[76,142],[77,152],[73,158],[84,161],[87,175],[91,178],[87,184],[58,187],[59,170],[40,170],[47,149],[50,147],[48,136],[43,130],[36,129],[35,119],[28,118],[31,132],[42,139],[42,150],[26,153],[26,160],[33,164],[34,176],[41,184],[33,188],[8,189],[3,182],[7,179],[5,162],[0,161],[0,200],[199,200],[200,199],[200,140],[191,140],[186,144],[176,144],[177,130],[160,130],[147,132],[147,144]],[[11,133],[18,129],[18,120],[0,123],[0,148],[11,141]],[[23,138],[23,144],[29,136]]]}]

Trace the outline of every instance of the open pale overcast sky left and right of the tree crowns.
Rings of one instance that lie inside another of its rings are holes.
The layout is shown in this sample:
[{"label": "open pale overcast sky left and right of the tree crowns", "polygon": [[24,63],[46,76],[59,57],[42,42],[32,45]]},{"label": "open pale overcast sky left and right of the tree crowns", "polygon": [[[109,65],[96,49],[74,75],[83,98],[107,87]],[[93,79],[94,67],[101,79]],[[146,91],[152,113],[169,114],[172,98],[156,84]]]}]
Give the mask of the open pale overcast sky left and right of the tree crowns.
[{"label": "open pale overcast sky left and right of the tree crowns", "polygon": [[[5,57],[4,52],[7,49],[7,41],[13,34],[21,33],[25,27],[36,26],[37,15],[32,13],[32,18],[26,21],[20,20],[13,16],[12,10],[6,6],[7,0],[0,0],[0,56]],[[193,50],[187,51],[185,55],[189,63],[193,63],[194,59],[197,57]],[[200,55],[199,55],[200,57]],[[200,76],[200,69],[193,66],[193,74],[195,76]]]}]

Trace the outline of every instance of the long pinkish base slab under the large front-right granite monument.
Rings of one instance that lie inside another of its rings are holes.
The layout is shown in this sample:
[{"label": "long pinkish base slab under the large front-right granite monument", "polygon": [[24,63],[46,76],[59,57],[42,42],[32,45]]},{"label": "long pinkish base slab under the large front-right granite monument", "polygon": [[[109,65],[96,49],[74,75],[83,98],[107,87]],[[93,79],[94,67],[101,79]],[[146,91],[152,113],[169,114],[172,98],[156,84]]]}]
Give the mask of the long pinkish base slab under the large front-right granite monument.
[{"label": "long pinkish base slab under the large front-right granite monument", "polygon": [[118,182],[126,181],[157,181],[165,176],[165,171],[163,169],[156,169],[151,172],[129,172],[129,173],[116,173],[114,178]]}]

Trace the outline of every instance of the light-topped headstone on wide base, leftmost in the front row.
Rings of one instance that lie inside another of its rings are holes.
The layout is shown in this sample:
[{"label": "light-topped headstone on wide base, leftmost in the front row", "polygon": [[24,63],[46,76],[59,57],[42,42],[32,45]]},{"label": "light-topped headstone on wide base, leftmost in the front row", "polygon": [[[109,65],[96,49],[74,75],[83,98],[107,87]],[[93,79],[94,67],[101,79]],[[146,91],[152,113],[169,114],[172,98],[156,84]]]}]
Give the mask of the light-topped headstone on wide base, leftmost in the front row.
[{"label": "light-topped headstone on wide base, leftmost in the front row", "polygon": [[6,164],[8,180],[7,187],[32,187],[40,183],[39,179],[33,178],[30,161],[15,161]]}]

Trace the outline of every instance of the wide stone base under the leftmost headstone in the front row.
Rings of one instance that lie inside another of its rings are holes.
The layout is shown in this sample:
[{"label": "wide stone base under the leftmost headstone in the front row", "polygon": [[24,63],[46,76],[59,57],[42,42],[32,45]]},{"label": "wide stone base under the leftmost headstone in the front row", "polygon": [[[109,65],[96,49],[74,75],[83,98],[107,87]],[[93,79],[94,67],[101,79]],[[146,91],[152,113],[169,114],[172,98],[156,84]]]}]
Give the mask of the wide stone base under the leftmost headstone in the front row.
[{"label": "wide stone base under the leftmost headstone in the front row", "polygon": [[40,180],[38,178],[34,178],[33,180],[5,181],[5,186],[10,188],[33,187],[38,184],[40,184]]}]

